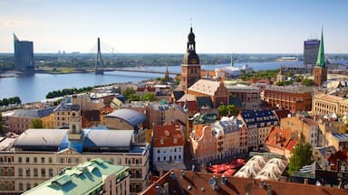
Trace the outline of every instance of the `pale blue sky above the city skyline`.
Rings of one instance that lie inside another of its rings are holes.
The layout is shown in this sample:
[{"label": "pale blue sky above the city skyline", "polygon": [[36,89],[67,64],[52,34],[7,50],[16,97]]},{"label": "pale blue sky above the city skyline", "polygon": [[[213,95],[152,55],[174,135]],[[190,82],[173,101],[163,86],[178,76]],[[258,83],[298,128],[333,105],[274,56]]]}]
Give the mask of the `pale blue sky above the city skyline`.
[{"label": "pale blue sky above the city skyline", "polygon": [[302,53],[319,38],[348,53],[345,0],[0,0],[0,52],[13,32],[34,52],[92,51],[97,37],[118,52],[185,52],[190,18],[198,53]]}]

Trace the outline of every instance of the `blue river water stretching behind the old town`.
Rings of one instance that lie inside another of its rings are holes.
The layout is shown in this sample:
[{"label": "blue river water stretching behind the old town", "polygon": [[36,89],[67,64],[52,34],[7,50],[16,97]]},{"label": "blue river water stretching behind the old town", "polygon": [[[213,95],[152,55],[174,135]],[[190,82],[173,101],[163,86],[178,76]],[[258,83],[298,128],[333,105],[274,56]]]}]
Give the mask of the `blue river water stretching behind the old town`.
[{"label": "blue river water stretching behind the old town", "polygon": [[[254,70],[274,70],[285,65],[300,65],[302,61],[295,62],[264,62],[248,63],[248,66]],[[245,64],[235,64],[241,67]],[[214,70],[220,67],[226,67],[228,64],[219,65],[202,65],[204,70]],[[165,71],[166,67],[143,67],[145,70]],[[169,72],[180,72],[180,66],[170,66]],[[43,100],[46,94],[52,90],[62,88],[83,88],[96,85],[105,85],[110,83],[124,83],[132,81],[141,81],[144,79],[156,79],[164,77],[163,74],[127,72],[127,71],[110,71],[104,72],[103,75],[94,73],[73,73],[73,74],[43,74],[36,73],[30,76],[0,78],[0,98],[11,98],[18,96],[23,103]]]}]

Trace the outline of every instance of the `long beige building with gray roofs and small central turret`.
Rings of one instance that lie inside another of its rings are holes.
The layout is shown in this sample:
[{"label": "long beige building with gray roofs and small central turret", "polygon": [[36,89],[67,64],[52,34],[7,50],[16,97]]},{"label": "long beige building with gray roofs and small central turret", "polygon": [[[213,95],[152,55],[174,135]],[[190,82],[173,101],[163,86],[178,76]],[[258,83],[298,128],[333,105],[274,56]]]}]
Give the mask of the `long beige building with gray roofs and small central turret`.
[{"label": "long beige building with gray roofs and small central turret", "polygon": [[0,193],[20,193],[66,167],[101,158],[130,167],[130,191],[147,186],[148,144],[134,144],[132,130],[81,130],[79,116],[67,129],[28,129],[14,145],[0,151]]}]

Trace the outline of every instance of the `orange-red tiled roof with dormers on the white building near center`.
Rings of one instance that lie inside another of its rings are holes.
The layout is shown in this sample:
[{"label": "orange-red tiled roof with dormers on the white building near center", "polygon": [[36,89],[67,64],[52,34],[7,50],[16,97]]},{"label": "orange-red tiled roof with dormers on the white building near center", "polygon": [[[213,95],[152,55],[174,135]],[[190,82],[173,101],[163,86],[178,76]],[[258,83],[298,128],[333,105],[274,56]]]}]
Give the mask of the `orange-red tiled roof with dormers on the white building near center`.
[{"label": "orange-red tiled roof with dormers on the white building near center", "polygon": [[[174,139],[177,139],[177,143],[174,143]],[[154,147],[184,145],[180,125],[175,123],[155,125],[153,127],[153,144]]]}]

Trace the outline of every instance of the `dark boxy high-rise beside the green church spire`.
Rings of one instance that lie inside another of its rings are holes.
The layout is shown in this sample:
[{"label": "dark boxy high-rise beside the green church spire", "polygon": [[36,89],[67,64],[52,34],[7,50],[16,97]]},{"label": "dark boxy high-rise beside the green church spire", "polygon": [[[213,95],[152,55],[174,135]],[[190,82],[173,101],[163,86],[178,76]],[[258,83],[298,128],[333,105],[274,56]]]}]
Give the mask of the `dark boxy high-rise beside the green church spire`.
[{"label": "dark boxy high-rise beside the green church spire", "polygon": [[310,39],[304,41],[304,65],[314,65],[318,56],[320,41]]}]

